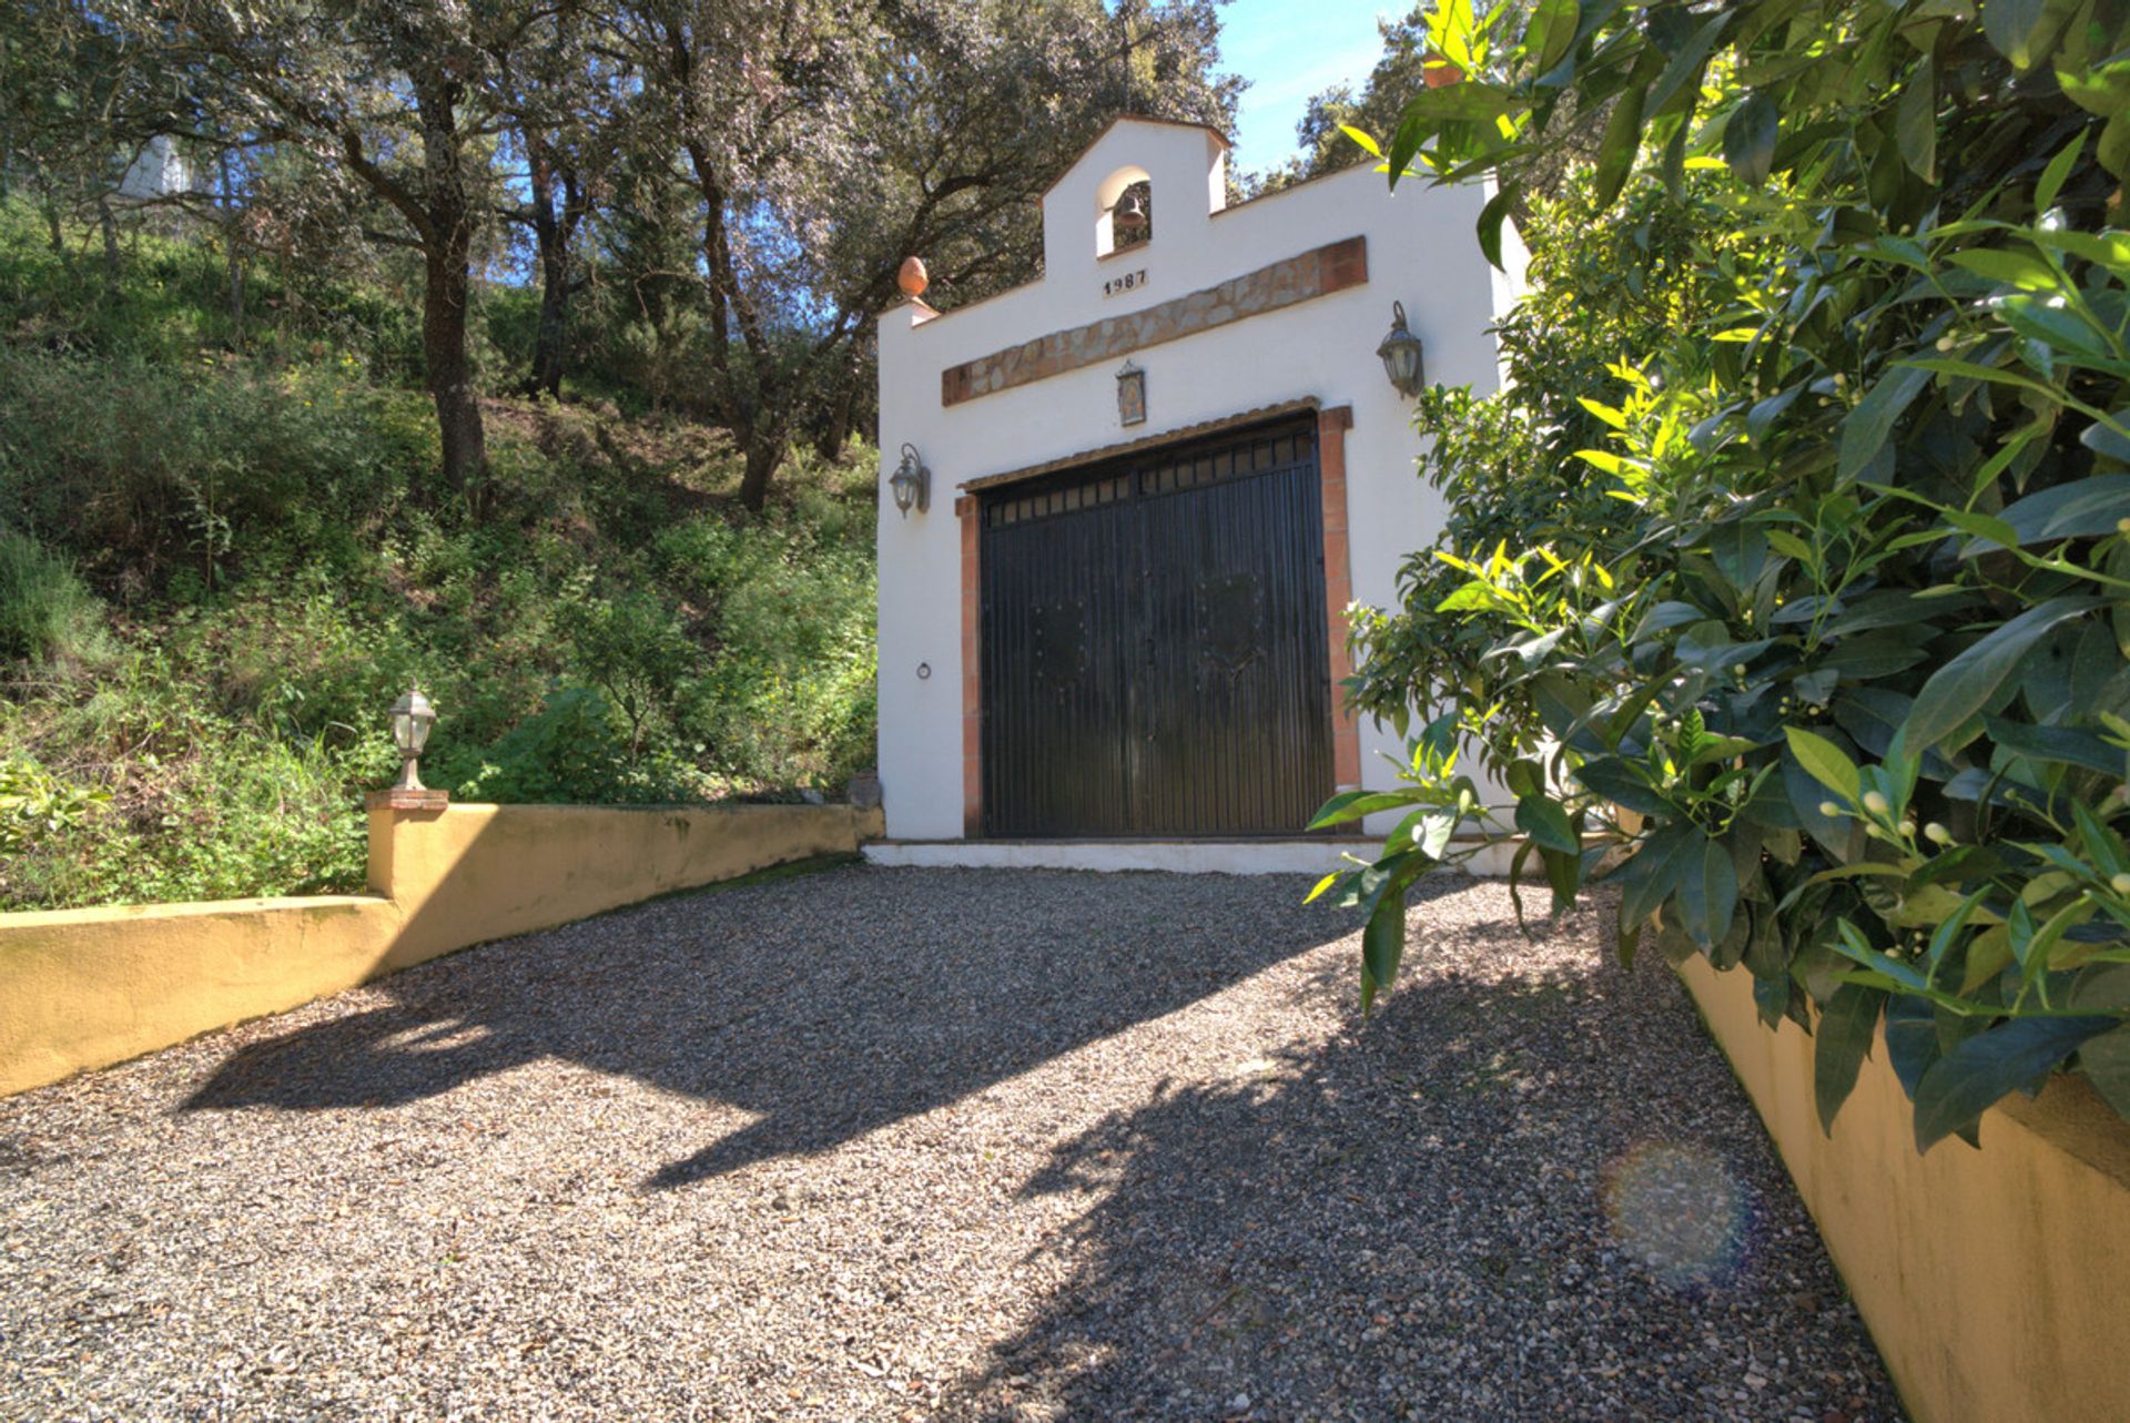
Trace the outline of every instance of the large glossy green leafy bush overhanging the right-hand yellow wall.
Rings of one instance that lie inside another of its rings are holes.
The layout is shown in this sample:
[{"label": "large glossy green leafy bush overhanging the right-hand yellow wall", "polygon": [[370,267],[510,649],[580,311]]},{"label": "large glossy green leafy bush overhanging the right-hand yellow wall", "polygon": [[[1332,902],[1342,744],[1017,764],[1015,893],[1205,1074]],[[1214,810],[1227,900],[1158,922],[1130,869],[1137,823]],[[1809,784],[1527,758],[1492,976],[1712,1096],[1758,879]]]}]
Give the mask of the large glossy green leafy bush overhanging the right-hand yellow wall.
[{"label": "large glossy green leafy bush overhanging the right-hand yellow wall", "polygon": [[[2130,17],[1508,15],[1436,15],[1472,79],[1414,96],[1391,168],[1514,196],[1561,100],[1608,102],[1598,205],[1638,156],[1672,194],[1727,170],[1762,279],[1585,392],[1619,533],[1468,560],[1436,605],[1489,639],[1457,660],[1478,686],[1406,790],[1323,816],[1408,812],[1344,880],[1363,995],[1474,814],[1557,905],[1619,861],[1623,952],[1653,927],[1815,1027],[1823,1123],[1881,1020],[1919,1148],[2058,1067],[2130,1112]],[[1489,812],[1453,748],[1514,699],[1544,735],[1497,754],[1517,805]]]}]

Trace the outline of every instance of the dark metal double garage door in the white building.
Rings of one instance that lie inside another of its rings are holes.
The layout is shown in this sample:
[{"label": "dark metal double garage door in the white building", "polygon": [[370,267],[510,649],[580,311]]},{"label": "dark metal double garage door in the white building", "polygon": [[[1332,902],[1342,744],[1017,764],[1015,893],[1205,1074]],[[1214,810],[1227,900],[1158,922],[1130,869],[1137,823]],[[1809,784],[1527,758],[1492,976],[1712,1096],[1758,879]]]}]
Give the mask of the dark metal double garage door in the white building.
[{"label": "dark metal double garage door in the white building", "polygon": [[984,833],[1293,835],[1331,792],[1316,422],[982,505]]}]

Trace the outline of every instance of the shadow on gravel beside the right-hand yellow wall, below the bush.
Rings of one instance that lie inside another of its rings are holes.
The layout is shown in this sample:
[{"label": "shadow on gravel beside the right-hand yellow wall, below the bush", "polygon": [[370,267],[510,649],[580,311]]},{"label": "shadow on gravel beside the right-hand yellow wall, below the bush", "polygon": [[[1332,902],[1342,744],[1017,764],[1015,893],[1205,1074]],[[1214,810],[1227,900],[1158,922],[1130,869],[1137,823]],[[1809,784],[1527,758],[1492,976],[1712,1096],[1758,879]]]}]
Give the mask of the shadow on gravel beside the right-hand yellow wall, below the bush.
[{"label": "shadow on gravel beside the right-hand yellow wall, below the bush", "polygon": [[1517,950],[1459,929],[1372,1023],[1061,1144],[1025,1195],[1097,1199],[1046,1246],[1069,1282],[946,1412],[1898,1417],[1655,954],[1502,974]]}]

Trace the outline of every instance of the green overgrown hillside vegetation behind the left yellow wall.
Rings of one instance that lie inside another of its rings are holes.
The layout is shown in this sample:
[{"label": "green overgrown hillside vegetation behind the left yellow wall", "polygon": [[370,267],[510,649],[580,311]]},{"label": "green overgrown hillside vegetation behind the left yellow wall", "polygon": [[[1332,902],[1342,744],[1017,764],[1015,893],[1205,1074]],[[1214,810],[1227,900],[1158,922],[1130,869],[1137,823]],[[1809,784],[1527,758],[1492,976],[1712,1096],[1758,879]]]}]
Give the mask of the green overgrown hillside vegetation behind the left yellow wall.
[{"label": "green overgrown hillside vegetation behind the left yellow wall", "polygon": [[211,230],[62,247],[0,205],[0,910],[358,888],[409,682],[462,799],[786,797],[871,760],[869,447],[794,445],[748,513],[728,437],[613,362],[494,394],[539,294],[490,285],[473,507],[390,268],[256,262],[239,330]]}]

